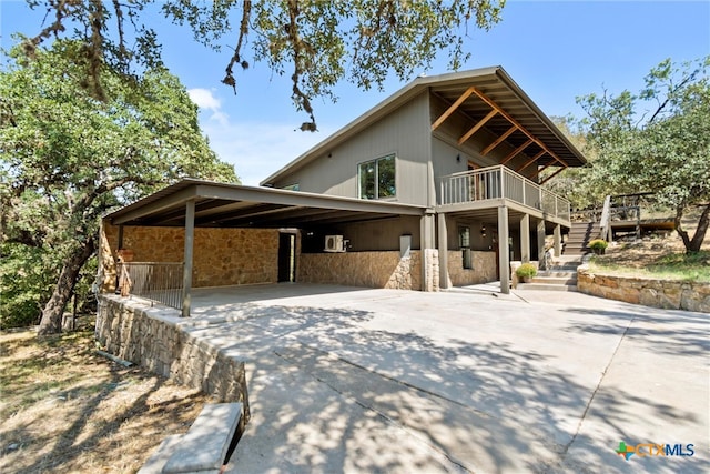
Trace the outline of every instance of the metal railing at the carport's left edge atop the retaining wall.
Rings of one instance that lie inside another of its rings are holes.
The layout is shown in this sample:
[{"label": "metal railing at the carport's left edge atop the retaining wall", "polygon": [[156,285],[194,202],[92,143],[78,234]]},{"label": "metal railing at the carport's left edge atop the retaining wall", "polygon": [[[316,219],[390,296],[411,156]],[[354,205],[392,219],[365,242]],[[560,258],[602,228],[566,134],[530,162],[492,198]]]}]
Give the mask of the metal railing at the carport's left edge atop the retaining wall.
[{"label": "metal railing at the carport's left edge atop the retaining wall", "polygon": [[119,286],[128,273],[129,293],[182,310],[182,262],[131,262],[119,264]]}]

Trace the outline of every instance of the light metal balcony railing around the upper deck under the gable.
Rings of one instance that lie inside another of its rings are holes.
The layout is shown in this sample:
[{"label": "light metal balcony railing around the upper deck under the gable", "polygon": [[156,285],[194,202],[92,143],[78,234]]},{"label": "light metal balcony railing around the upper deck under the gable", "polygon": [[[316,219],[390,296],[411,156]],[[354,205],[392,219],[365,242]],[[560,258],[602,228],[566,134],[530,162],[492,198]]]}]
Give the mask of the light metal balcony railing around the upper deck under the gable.
[{"label": "light metal balcony railing around the upper deck under the gable", "polygon": [[541,188],[504,165],[448,174],[440,178],[439,203],[508,199],[545,214],[569,221],[569,201]]}]

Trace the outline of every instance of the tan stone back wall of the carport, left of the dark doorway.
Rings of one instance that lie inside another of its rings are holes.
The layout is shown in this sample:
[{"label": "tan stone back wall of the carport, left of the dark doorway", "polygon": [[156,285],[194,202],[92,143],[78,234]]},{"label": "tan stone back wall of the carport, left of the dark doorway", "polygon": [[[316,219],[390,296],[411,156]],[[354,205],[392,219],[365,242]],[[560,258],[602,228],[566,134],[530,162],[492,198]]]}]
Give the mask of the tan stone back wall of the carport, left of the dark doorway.
[{"label": "tan stone back wall of the carport, left of the dark doorway", "polygon": [[[123,228],[123,248],[133,251],[134,262],[182,262],[182,228]],[[103,291],[115,284],[115,251],[119,228],[104,221],[100,268]],[[278,231],[275,229],[195,229],[192,284],[226,286],[276,283],[278,279]]]}]

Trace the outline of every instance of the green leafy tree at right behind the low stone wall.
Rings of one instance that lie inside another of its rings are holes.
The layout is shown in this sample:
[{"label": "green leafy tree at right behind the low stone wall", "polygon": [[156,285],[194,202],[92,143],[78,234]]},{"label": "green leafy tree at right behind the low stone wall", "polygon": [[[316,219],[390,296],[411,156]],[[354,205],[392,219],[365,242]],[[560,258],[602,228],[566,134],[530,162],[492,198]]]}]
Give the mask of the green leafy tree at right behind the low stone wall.
[{"label": "green leafy tree at right behind the low stone wall", "polygon": [[[653,191],[674,210],[674,228],[686,252],[698,252],[710,225],[710,57],[674,64],[662,61],[633,94],[578,99],[580,121],[598,154],[590,179],[608,193]],[[681,220],[700,206],[692,238]]]}]

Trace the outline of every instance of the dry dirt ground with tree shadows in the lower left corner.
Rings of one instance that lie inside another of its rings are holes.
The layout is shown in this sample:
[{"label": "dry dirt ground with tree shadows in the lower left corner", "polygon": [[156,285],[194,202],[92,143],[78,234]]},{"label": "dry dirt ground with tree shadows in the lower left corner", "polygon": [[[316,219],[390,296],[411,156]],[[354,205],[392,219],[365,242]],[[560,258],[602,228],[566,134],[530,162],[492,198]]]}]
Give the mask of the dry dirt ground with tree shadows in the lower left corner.
[{"label": "dry dirt ground with tree shadows in the lower left corner", "polygon": [[0,472],[131,473],[210,400],[95,353],[93,320],[38,340],[0,334]]}]

